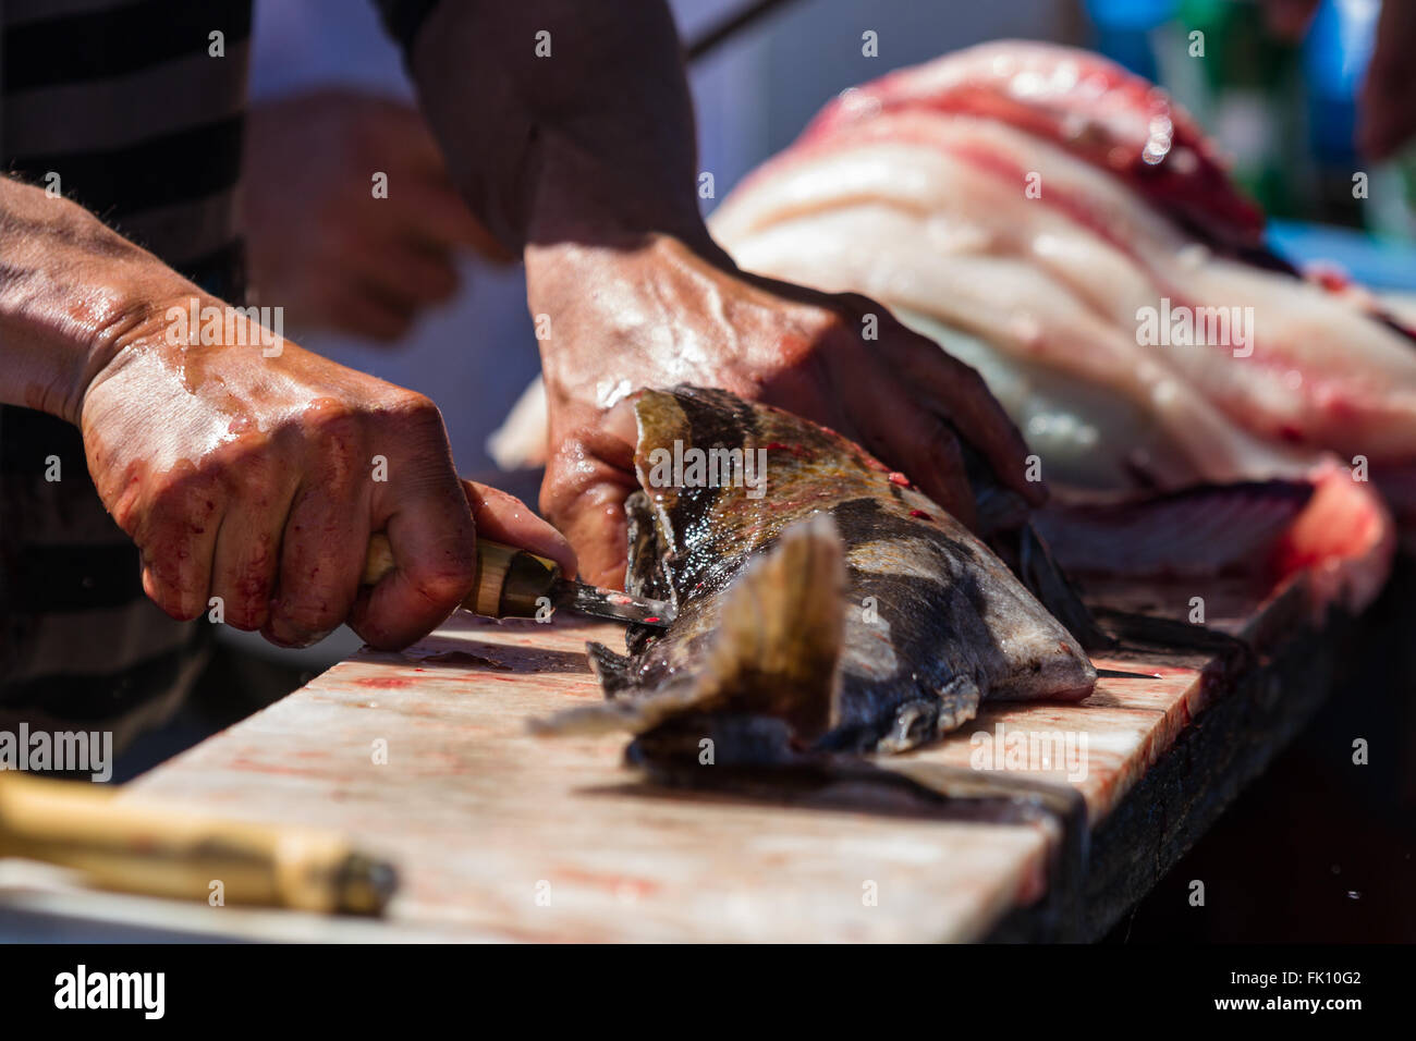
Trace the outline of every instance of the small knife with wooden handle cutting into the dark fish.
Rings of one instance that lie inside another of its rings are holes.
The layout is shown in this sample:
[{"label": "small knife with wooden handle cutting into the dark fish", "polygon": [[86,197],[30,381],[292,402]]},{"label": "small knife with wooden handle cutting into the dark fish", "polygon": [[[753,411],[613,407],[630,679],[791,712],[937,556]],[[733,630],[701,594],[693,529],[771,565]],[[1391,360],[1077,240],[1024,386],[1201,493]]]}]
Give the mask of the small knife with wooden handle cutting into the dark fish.
[{"label": "small knife with wooden handle cutting into the dark fish", "polygon": [[[364,585],[374,585],[394,567],[388,537],[372,535],[364,559]],[[477,540],[477,578],[460,606],[483,618],[547,618],[547,612],[565,608],[578,615],[660,629],[674,620],[674,608],[664,601],[576,582],[565,578],[555,561],[490,538]]]}]

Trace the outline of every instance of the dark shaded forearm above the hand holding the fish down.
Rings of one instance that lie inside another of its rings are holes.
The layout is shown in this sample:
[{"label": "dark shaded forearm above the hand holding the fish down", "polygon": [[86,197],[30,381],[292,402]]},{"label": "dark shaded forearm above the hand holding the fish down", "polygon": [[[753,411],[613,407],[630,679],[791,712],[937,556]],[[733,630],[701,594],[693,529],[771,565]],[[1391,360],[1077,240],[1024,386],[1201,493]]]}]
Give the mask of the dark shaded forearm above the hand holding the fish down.
[{"label": "dark shaded forearm above the hand holding the fish down", "polygon": [[[541,31],[549,57],[537,55]],[[707,244],[663,0],[442,0],[411,64],[455,180],[508,249]]]}]

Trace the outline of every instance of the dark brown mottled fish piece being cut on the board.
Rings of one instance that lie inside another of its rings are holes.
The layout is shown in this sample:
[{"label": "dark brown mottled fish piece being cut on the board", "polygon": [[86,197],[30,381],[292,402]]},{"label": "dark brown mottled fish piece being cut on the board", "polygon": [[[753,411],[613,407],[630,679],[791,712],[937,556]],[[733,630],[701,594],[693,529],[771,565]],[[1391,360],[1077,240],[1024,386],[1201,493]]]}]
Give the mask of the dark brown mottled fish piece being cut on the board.
[{"label": "dark brown mottled fish piece being cut on the board", "polygon": [[[646,389],[634,414],[626,592],[674,622],[632,626],[624,654],[589,644],[606,701],[537,732],[629,731],[636,762],[711,746],[786,765],[918,748],[987,700],[1092,693],[1092,661],[1008,567],[854,442],[712,388]],[[694,452],[760,459],[763,480],[675,483],[666,463]]]}]

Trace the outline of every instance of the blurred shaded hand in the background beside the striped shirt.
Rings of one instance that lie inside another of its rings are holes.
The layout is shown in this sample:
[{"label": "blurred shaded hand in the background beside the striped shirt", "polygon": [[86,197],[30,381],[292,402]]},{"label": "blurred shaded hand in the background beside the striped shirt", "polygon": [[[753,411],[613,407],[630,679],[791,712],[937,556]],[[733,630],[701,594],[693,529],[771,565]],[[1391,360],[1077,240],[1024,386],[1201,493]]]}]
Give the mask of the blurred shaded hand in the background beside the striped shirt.
[{"label": "blurred shaded hand in the background beside the striped shirt", "polygon": [[456,251],[510,259],[462,201],[422,116],[396,101],[321,89],[252,106],[242,180],[252,289],[295,329],[394,341],[457,290]]}]

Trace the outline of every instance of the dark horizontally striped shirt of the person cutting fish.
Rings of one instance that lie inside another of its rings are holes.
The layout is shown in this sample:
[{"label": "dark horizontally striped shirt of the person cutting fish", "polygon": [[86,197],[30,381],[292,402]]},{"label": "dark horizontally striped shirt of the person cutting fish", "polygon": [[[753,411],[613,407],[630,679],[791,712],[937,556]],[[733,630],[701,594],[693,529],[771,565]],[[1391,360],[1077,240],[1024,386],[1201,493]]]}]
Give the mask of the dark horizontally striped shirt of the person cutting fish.
[{"label": "dark horizontally striped shirt of the person cutting fish", "polygon": [[[408,42],[432,1],[379,7]],[[0,167],[239,303],[251,0],[0,0]],[[79,432],[0,406],[0,727],[103,724],[120,744],[178,704],[208,635],[143,595]]]}]

